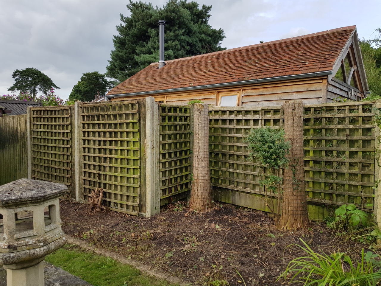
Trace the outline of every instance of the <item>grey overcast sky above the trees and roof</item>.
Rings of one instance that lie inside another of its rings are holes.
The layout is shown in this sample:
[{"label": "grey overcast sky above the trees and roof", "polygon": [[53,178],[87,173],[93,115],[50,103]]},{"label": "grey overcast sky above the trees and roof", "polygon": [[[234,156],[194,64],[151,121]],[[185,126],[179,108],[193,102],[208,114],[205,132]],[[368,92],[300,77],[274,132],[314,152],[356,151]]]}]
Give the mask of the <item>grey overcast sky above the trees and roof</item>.
[{"label": "grey overcast sky above the trees and roof", "polygon": [[[143,0],[144,1],[144,0]],[[148,2],[148,1],[147,1]],[[166,0],[151,3],[162,7]],[[242,47],[357,25],[360,39],[381,27],[380,0],[200,0],[209,23],[224,29],[222,46]],[[119,14],[127,0],[0,0],[0,94],[15,69],[34,67],[67,99],[83,72],[106,72]],[[166,27],[169,29],[169,27]]]}]

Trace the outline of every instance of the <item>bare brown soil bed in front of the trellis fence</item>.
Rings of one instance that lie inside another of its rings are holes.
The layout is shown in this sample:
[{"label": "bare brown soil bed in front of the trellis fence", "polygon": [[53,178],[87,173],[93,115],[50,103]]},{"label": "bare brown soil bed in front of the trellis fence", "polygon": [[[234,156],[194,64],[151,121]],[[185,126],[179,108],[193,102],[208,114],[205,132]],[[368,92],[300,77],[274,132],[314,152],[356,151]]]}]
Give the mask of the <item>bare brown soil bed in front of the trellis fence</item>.
[{"label": "bare brown soil bed in front of the trellis fence", "polygon": [[287,284],[276,280],[288,262],[305,255],[295,245],[302,244],[300,239],[315,252],[340,251],[354,258],[370,246],[338,236],[325,223],[311,222],[310,228],[294,233],[279,231],[266,213],[230,204],[191,214],[180,202],[151,218],[89,210],[89,204],[62,200],[64,233],[194,284]]}]

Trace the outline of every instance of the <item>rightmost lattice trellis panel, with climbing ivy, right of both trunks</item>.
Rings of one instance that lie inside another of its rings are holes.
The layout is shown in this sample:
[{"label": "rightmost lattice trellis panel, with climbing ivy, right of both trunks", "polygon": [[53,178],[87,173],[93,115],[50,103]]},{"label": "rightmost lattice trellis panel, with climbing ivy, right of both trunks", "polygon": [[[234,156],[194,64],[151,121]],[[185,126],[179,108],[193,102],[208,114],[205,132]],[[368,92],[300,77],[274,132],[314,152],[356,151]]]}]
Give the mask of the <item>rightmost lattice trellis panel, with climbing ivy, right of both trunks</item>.
[{"label": "rightmost lattice trellis panel, with climbing ivy, right of both trunks", "polygon": [[372,209],[375,126],[372,104],[306,106],[304,164],[308,201]]}]

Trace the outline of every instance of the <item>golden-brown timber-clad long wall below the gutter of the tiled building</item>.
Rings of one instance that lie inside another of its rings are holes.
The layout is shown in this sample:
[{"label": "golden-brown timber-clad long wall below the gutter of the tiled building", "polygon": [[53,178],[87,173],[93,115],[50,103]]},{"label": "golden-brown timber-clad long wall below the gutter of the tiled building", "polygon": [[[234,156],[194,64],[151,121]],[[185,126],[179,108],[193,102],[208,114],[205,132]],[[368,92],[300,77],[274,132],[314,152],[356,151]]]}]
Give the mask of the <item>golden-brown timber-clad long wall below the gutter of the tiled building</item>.
[{"label": "golden-brown timber-clad long wall below the gutter of the tiled building", "polygon": [[126,96],[114,100],[135,100],[154,96],[167,104],[185,105],[199,99],[204,103],[216,105],[219,92],[239,91],[240,106],[279,106],[287,100],[303,100],[305,104],[327,102],[327,77],[282,80],[255,85],[242,85],[230,88],[216,88],[196,91],[160,93],[158,95]]}]

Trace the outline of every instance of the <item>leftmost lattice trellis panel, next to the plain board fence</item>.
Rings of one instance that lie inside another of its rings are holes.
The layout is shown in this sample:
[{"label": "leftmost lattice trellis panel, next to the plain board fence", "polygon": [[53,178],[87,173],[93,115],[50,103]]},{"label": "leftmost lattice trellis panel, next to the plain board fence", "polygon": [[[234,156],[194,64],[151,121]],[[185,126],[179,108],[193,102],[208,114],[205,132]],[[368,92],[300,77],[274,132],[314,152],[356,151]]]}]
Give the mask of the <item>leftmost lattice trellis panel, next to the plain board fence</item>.
[{"label": "leftmost lattice trellis panel, next to the plain board fence", "polygon": [[72,107],[30,109],[31,174],[34,180],[67,185],[72,191]]}]

